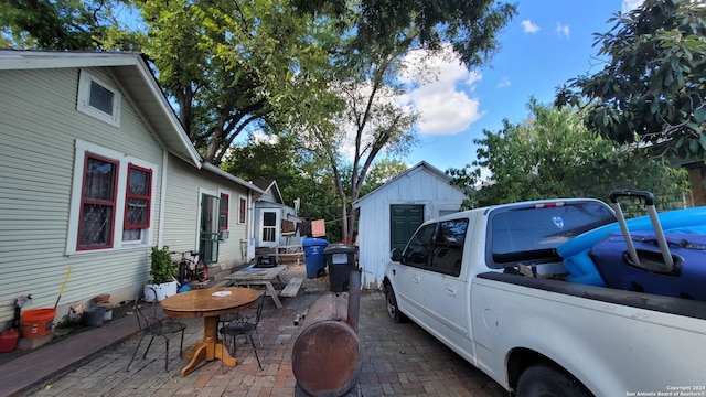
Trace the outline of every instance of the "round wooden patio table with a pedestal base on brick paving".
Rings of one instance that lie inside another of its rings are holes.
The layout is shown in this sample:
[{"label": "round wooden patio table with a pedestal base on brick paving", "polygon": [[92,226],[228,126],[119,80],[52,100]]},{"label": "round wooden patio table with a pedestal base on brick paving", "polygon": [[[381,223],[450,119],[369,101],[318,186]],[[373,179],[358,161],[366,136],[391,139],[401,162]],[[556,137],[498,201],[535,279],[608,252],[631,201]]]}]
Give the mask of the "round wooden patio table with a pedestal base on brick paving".
[{"label": "round wooden patio table with a pedestal base on brick paving", "polygon": [[235,313],[250,307],[260,291],[244,287],[217,287],[196,289],[176,293],[160,302],[162,311],[175,318],[203,318],[203,340],[184,353],[191,361],[181,369],[184,377],[203,361],[220,358],[228,366],[235,366],[236,360],[222,348],[218,339],[218,318],[221,314]]}]

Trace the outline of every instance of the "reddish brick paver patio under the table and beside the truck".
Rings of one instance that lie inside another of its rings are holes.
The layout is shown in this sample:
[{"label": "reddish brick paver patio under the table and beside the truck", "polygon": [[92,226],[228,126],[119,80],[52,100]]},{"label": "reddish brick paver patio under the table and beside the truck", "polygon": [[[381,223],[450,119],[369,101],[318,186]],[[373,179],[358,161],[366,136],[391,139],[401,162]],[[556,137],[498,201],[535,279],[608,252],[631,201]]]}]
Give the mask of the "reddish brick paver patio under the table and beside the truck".
[{"label": "reddish brick paver patio under the table and beside the truck", "polygon": [[[304,275],[303,265],[290,265],[288,276]],[[164,346],[156,340],[147,360],[141,353],[130,372],[125,368],[138,339],[103,351],[93,360],[35,385],[23,396],[199,396],[266,397],[302,396],[296,387],[291,368],[291,350],[301,332],[295,318],[320,296],[328,292],[324,279],[304,280],[304,290],[296,298],[285,298],[284,308],[266,301],[258,328],[263,347],[258,354],[264,371],[258,371],[253,348],[239,339],[236,367],[220,361],[206,363],[181,378],[179,369],[188,362],[180,358],[178,342],[170,345],[169,368],[164,372]],[[203,321],[185,319],[189,326],[184,348],[202,336]],[[106,325],[109,326],[109,325]],[[385,298],[379,291],[364,291],[361,298],[359,336],[363,344],[363,365],[355,396],[506,396],[492,379],[464,362],[414,323],[395,324],[387,318]],[[257,343],[257,341],[256,341]],[[66,352],[71,354],[71,352]],[[32,371],[28,368],[28,371]]]}]

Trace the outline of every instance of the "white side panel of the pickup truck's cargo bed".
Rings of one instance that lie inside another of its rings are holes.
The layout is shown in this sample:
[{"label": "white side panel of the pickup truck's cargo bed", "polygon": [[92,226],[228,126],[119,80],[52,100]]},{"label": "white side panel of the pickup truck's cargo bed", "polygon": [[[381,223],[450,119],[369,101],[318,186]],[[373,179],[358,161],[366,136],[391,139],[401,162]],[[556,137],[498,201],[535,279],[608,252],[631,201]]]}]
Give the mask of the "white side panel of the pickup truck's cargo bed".
[{"label": "white side panel of the pickup truck's cargo bed", "polygon": [[471,291],[478,366],[501,385],[511,354],[528,350],[597,396],[706,396],[706,302],[499,272]]}]

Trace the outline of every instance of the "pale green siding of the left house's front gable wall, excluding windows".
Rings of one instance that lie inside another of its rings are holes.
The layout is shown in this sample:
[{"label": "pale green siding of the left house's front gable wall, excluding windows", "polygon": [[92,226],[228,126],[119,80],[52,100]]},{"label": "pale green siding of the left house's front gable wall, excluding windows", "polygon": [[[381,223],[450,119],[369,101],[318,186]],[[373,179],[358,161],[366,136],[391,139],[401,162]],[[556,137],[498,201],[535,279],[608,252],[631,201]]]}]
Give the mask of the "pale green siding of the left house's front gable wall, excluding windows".
[{"label": "pale green siding of the left house's front gable wall, excluding windows", "polygon": [[[110,74],[90,72],[121,88]],[[0,72],[0,329],[12,320],[19,296],[33,297],[24,310],[54,307],[69,266],[57,321],[75,301],[100,293],[111,293],[114,303],[133,298],[148,277],[148,247],[65,255],[76,139],[162,164],[161,146],[125,95],[120,127],[76,110],[78,74]],[[160,173],[153,172],[154,230]]]}]

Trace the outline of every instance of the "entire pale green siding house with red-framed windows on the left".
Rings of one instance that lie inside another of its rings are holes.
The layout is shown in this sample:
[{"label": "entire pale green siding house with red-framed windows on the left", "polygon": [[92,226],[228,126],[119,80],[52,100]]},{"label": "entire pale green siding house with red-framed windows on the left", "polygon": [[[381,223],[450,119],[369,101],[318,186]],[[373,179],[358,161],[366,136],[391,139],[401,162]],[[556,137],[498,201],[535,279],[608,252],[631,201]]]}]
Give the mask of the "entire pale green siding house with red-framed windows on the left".
[{"label": "entire pale green siding house with red-framed windows on the left", "polygon": [[0,330],[14,301],[133,299],[152,246],[248,257],[257,186],[202,162],[138,53],[0,51]]}]

